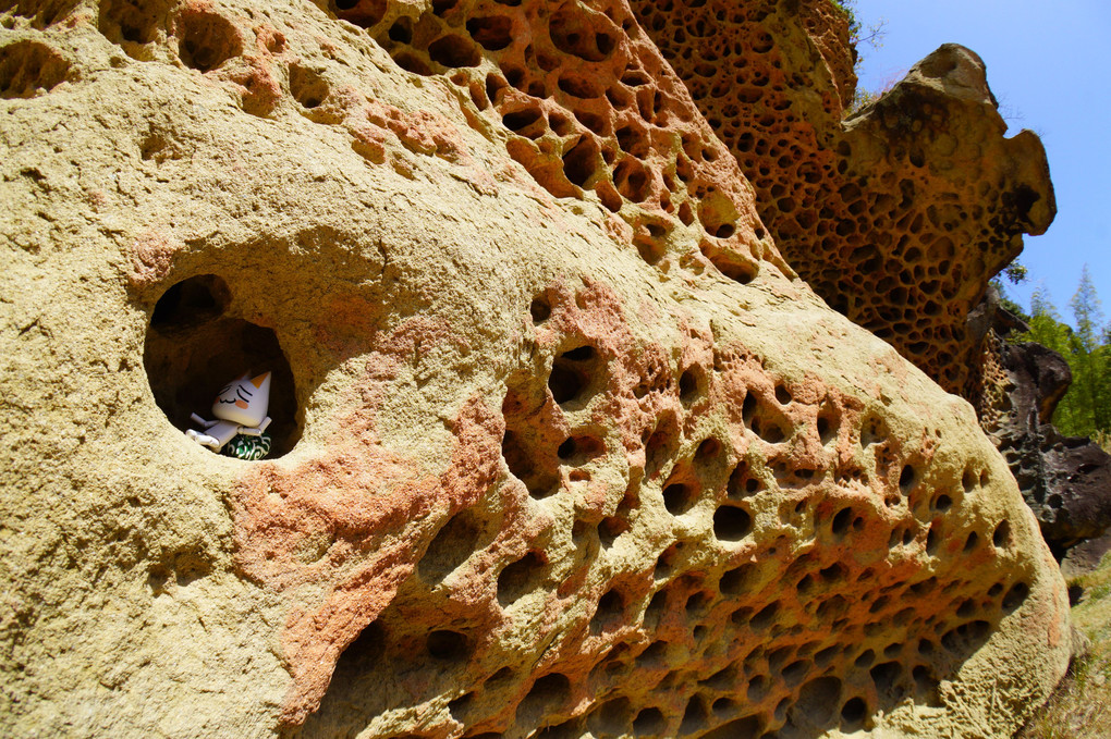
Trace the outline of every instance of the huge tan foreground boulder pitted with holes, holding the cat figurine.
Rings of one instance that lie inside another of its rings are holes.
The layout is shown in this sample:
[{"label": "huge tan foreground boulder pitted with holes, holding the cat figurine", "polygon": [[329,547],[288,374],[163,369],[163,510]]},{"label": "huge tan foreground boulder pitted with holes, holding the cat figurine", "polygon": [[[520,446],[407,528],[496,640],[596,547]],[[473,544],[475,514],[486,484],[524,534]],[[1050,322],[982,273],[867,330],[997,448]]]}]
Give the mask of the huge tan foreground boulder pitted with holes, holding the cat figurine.
[{"label": "huge tan foreground boulder pitted with holes, holding the cat figurine", "polygon": [[[4,731],[1009,735],[1005,463],[628,6],[340,6],[0,3]],[[272,459],[181,432],[246,366]]]}]

